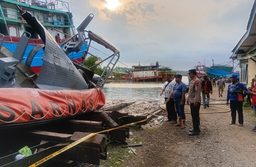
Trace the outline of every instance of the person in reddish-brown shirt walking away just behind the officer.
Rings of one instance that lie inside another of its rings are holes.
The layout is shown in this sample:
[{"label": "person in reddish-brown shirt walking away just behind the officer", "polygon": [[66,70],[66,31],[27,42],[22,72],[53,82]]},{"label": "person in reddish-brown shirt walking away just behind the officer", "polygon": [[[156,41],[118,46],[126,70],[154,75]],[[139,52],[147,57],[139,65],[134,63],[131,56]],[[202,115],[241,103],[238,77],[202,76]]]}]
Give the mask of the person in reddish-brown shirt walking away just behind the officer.
[{"label": "person in reddish-brown shirt walking away just behind the officer", "polygon": [[[208,79],[207,75],[203,75],[202,80],[202,98],[203,98],[203,108],[205,109],[206,106],[209,106],[210,102],[210,94],[212,94],[212,85],[211,81]],[[207,97],[206,103],[205,103],[205,96]]]}]

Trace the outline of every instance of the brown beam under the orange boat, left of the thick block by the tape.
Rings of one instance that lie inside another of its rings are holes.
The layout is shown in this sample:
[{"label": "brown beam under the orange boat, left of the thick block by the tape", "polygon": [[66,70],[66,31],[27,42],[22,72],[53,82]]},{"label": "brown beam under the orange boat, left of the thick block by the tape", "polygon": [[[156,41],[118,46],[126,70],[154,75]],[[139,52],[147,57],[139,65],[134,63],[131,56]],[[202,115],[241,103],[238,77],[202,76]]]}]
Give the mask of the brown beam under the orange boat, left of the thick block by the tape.
[{"label": "brown beam under the orange boat, left of the thick block by the tape", "polygon": [[62,134],[62,133],[54,133],[54,132],[47,132],[47,131],[40,131],[40,130],[33,130],[27,132],[29,137],[32,138],[39,138],[42,140],[49,140],[61,143],[69,143],[70,138],[72,135],[70,134]]}]

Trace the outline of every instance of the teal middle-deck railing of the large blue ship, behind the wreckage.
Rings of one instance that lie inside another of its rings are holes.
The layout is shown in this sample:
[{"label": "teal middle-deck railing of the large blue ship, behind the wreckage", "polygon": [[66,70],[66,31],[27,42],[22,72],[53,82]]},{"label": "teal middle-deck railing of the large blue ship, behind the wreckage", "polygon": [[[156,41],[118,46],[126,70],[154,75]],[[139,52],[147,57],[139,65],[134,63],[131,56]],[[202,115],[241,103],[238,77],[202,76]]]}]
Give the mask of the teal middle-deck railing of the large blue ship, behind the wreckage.
[{"label": "teal middle-deck railing of the large blue ship, behind the wreckage", "polygon": [[[19,16],[19,12],[16,11],[16,10],[12,10],[10,8],[8,9],[5,9],[5,8],[2,8],[3,9],[3,14],[4,14],[4,17],[5,18],[9,18],[9,19],[14,19],[14,20],[19,20],[19,21],[22,21],[22,22],[25,22],[21,16]],[[37,20],[39,20],[42,24],[49,24],[49,26],[51,25],[66,25],[66,26],[70,26],[70,23],[72,26],[74,26],[73,24],[73,20],[70,19],[66,19],[66,18],[58,18],[58,19],[54,19],[53,17],[49,17],[48,15],[45,15],[45,14],[41,14],[39,13],[38,15],[35,15],[33,14]],[[0,13],[0,16],[1,13]],[[50,18],[50,20],[49,20]]]}]

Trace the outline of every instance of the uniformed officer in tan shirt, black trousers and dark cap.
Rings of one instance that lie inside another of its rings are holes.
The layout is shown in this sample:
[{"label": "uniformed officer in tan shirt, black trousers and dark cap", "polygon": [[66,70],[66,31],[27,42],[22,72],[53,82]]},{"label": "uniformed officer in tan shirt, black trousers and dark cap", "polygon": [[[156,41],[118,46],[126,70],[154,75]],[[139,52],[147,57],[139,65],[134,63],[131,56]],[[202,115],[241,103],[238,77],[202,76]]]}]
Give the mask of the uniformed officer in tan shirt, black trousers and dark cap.
[{"label": "uniformed officer in tan shirt, black trousers and dark cap", "polygon": [[199,135],[200,117],[199,110],[201,105],[201,82],[196,77],[196,70],[188,70],[189,77],[192,79],[189,85],[187,104],[190,104],[190,112],[193,122],[193,129],[190,129],[189,136]]}]

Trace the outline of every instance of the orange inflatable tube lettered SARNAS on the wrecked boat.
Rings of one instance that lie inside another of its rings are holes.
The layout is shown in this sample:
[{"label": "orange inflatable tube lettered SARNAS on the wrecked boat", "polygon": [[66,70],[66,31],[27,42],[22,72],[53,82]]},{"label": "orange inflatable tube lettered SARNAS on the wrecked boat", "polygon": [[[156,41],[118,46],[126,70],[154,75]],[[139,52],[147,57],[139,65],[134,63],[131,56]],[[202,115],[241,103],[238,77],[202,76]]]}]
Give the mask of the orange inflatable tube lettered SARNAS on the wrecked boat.
[{"label": "orange inflatable tube lettered SARNAS on the wrecked boat", "polygon": [[60,119],[95,111],[105,104],[101,89],[40,90],[29,88],[1,89],[0,127]]}]

